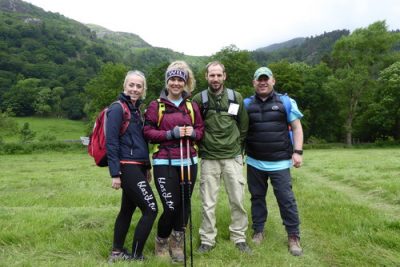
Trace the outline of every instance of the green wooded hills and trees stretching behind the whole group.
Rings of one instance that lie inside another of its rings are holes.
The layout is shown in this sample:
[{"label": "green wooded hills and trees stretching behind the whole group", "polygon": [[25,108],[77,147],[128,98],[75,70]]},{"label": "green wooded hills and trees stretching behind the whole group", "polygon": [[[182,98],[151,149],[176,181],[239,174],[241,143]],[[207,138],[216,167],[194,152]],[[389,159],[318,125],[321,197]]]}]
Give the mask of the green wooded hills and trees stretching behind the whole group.
[{"label": "green wooded hills and trees stretching behind the whole group", "polygon": [[399,51],[399,31],[377,21],[272,50],[247,51],[232,44],[210,57],[195,57],[20,0],[0,0],[0,128],[12,116],[91,121],[122,90],[130,69],[146,74],[148,103],[164,87],[172,60],[191,65],[200,91],[207,87],[205,65],[220,60],[227,87],[245,97],[254,93],[254,71],[271,68],[276,91],[288,93],[304,113],[308,143],[399,142]]}]

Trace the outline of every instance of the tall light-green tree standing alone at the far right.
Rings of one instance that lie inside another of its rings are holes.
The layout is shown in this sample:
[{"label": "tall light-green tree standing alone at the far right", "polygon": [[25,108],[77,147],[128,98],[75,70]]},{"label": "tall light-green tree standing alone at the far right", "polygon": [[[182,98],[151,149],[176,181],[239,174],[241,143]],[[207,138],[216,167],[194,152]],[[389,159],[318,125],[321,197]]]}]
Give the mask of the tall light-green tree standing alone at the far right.
[{"label": "tall light-green tree standing alone at the far right", "polygon": [[348,145],[352,144],[360,101],[373,90],[379,71],[393,58],[391,48],[395,42],[396,35],[387,31],[384,21],[378,21],[366,29],[355,30],[334,46],[334,78],[329,84],[338,96]]}]

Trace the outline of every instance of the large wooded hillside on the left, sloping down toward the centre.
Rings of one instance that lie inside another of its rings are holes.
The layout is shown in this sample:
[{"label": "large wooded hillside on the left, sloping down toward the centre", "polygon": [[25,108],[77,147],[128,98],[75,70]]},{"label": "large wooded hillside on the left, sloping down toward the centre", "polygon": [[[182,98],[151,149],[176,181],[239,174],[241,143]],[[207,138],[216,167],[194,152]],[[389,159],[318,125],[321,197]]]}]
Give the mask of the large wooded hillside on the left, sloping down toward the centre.
[{"label": "large wooded hillside on the left, sloping down toward the centre", "polygon": [[135,34],[91,27],[21,0],[0,0],[0,111],[81,119],[84,87],[107,62],[145,72],[175,59],[203,65],[204,58],[152,47]]}]

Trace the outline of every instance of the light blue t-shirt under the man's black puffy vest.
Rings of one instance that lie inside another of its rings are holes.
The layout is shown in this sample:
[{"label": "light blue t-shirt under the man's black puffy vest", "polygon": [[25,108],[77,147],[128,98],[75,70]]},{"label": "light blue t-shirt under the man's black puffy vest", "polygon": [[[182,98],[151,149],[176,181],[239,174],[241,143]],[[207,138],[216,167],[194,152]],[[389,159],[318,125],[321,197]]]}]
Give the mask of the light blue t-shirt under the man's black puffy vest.
[{"label": "light blue t-shirt under the man's black puffy vest", "polygon": [[[288,122],[292,122],[297,119],[301,119],[303,114],[300,112],[299,107],[294,99],[290,98],[290,103],[292,104],[290,114],[288,114]],[[293,163],[291,159],[279,160],[279,161],[266,161],[257,160],[252,157],[247,156],[246,163],[256,169],[261,171],[279,171],[284,169],[289,169],[292,167]]]}]

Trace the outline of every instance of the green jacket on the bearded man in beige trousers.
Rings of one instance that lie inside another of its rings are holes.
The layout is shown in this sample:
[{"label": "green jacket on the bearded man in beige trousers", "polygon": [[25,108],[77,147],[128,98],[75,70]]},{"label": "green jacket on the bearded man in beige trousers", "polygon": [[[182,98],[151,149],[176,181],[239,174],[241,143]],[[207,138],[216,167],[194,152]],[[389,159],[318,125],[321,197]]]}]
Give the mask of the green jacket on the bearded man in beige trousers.
[{"label": "green jacket on the bearded man in beige trousers", "polygon": [[[247,134],[249,119],[243,106],[243,97],[235,91],[236,101],[239,104],[237,120],[228,111],[228,93],[226,88],[221,96],[215,95],[208,89],[208,112],[204,119],[204,136],[199,144],[199,156],[203,159],[230,159],[243,154],[244,141]],[[217,99],[219,101],[219,112]],[[201,92],[196,94],[195,101],[203,111]]]}]

